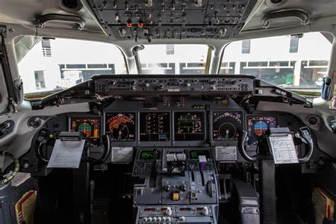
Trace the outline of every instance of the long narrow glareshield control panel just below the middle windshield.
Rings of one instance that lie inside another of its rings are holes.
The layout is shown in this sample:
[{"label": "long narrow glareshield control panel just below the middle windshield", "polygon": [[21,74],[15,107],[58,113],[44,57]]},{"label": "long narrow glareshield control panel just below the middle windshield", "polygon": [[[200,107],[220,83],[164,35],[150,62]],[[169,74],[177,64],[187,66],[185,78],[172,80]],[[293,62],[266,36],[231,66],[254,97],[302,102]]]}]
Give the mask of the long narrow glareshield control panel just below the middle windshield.
[{"label": "long narrow glareshield control panel just below the middle windshield", "polygon": [[237,77],[236,75],[227,77],[197,77],[181,75],[181,77],[118,77],[94,76],[94,86],[96,94],[135,94],[144,92],[208,92],[208,93],[247,93],[254,89],[253,77]]}]

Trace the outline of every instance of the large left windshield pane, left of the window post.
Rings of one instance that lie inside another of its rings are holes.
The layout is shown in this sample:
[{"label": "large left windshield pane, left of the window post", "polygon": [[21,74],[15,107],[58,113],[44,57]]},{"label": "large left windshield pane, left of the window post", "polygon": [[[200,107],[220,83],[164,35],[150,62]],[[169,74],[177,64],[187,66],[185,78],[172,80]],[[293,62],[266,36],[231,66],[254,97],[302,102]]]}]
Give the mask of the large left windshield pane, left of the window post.
[{"label": "large left windshield pane, left of the window post", "polygon": [[85,40],[41,40],[18,63],[26,97],[67,89],[94,74],[125,74],[125,60],[115,45]]}]

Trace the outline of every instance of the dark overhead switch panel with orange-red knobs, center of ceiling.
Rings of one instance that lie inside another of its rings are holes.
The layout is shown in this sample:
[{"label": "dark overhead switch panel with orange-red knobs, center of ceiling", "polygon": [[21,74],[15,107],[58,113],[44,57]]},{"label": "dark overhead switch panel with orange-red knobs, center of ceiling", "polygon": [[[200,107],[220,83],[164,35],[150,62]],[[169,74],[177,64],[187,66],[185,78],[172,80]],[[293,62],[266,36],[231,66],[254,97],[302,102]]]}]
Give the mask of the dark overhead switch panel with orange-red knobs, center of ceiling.
[{"label": "dark overhead switch panel with orange-red knobs, center of ceiling", "polygon": [[234,38],[257,0],[89,0],[109,38]]}]

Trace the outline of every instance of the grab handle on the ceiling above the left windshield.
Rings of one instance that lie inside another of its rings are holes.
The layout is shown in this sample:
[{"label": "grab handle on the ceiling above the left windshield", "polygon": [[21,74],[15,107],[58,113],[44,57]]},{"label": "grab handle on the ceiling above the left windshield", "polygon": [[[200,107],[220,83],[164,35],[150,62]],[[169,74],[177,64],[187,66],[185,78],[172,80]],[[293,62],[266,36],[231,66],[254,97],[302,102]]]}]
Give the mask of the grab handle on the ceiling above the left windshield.
[{"label": "grab handle on the ceiling above the left windshield", "polygon": [[60,14],[47,14],[38,18],[38,26],[45,27],[49,22],[67,22],[75,23],[78,30],[83,30],[85,26],[85,20],[79,16],[68,16]]}]

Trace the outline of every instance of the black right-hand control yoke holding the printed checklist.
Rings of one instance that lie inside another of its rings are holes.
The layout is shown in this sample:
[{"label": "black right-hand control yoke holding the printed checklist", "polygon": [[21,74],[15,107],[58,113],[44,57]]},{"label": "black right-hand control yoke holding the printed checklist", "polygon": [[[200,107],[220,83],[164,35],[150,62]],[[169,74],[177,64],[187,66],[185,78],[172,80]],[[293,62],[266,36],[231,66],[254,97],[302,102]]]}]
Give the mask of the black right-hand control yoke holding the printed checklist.
[{"label": "black right-hand control yoke holding the printed checklist", "polygon": [[[300,138],[302,140],[302,142],[306,143],[306,145],[308,145],[308,150],[306,150],[306,154],[301,157],[298,158],[298,162],[299,163],[305,163],[308,162],[311,155],[313,155],[313,138],[310,135],[310,130],[308,127],[303,127],[300,128],[300,131],[298,133],[296,133],[295,135],[296,138]],[[262,138],[264,138],[264,136],[262,136]],[[240,152],[240,154],[242,155],[242,157],[247,160],[248,162],[257,162],[260,159],[272,159],[271,154],[267,153],[267,154],[263,154],[263,155],[253,155],[250,156],[247,154],[246,148],[245,148],[245,142],[247,141],[247,132],[246,131],[242,131],[240,138],[238,138],[238,150]],[[258,147],[259,144],[261,143],[261,141],[259,140],[258,142]]]}]

